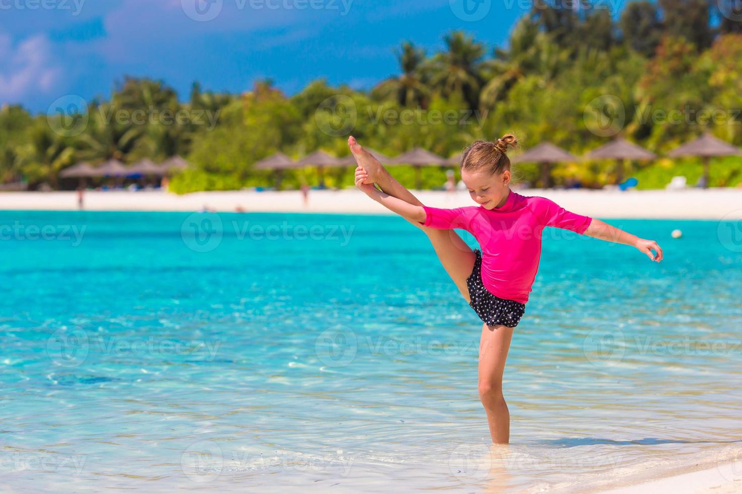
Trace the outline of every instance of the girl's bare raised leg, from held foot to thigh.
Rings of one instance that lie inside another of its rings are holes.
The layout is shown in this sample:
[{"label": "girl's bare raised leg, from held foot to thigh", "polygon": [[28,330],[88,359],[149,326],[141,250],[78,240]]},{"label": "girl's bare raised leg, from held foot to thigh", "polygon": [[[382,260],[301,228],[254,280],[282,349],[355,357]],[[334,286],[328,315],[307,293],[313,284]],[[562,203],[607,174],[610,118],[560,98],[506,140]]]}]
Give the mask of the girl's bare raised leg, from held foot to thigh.
[{"label": "girl's bare raised leg, from held foot to thigh", "polygon": [[[348,139],[348,144],[350,145],[350,151],[352,151],[355,157],[355,161],[367,171],[370,180],[375,182],[382,191],[410,204],[422,205],[422,202],[412,192],[397,182],[386,168],[362,148],[353,137]],[[476,260],[474,251],[467,246],[464,240],[462,240],[462,237],[459,237],[459,234],[454,230],[427,228],[415,220],[405,219],[424,231],[430,243],[433,244],[433,248],[444,269],[453,280],[453,283],[456,283],[456,287],[468,303],[470,298],[466,280],[474,268],[474,261]]]}]

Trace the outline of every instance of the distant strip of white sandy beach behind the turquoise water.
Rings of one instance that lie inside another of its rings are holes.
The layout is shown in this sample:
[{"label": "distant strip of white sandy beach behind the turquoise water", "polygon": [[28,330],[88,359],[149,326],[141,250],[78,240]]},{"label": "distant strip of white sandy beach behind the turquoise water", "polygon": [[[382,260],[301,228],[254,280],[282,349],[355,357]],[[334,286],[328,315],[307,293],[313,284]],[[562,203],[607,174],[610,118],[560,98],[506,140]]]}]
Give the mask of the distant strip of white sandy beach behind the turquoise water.
[{"label": "distant strip of white sandy beach behind the turquoise water", "polygon": [[[742,189],[712,188],[682,191],[588,191],[522,189],[520,194],[539,195],[563,208],[600,218],[646,218],[686,220],[741,220]],[[415,191],[425,205],[454,208],[473,205],[466,191]],[[76,210],[77,194],[71,192],[6,192],[0,194],[0,210]],[[303,204],[299,191],[198,192],[178,196],[162,191],[88,191],[88,211],[214,211],[306,212],[388,214],[385,208],[361,191],[310,191]]]}]

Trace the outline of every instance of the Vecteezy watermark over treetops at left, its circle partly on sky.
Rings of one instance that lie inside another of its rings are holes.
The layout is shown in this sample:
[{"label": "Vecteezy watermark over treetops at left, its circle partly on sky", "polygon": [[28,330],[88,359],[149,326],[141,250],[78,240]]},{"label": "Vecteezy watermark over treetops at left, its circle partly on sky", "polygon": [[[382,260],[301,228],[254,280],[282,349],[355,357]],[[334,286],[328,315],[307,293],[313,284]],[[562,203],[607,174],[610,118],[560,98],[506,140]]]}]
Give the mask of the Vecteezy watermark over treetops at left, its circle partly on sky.
[{"label": "Vecteezy watermark over treetops at left, its circle partly on sky", "polygon": [[102,105],[92,108],[76,94],[56,99],[47,110],[47,123],[56,134],[65,137],[79,136],[88,128],[91,113],[96,112],[103,125],[203,125],[213,131],[221,110],[211,111],[189,108],[118,108]]}]

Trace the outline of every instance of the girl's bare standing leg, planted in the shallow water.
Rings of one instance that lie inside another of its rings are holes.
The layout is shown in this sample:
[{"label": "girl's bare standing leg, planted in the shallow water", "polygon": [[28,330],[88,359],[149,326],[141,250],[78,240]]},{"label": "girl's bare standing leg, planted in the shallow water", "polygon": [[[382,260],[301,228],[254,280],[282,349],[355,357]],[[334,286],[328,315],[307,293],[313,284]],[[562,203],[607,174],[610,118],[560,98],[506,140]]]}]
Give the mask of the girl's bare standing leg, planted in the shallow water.
[{"label": "girl's bare standing leg, planted in the shallow water", "polygon": [[492,442],[510,441],[510,412],[502,396],[502,374],[508,358],[513,328],[482,324],[479,340],[479,399],[485,406]]}]

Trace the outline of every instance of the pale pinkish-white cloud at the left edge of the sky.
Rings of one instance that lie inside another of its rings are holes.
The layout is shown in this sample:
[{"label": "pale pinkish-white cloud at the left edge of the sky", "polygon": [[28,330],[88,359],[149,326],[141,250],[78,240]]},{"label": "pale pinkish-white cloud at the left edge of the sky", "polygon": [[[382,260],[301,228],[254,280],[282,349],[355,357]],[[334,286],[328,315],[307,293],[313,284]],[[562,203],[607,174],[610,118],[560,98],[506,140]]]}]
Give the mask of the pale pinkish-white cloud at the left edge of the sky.
[{"label": "pale pinkish-white cloud at the left edge of the sky", "polygon": [[0,100],[19,102],[24,96],[50,93],[60,67],[53,62],[52,46],[46,36],[30,36],[13,43],[0,33]]}]

